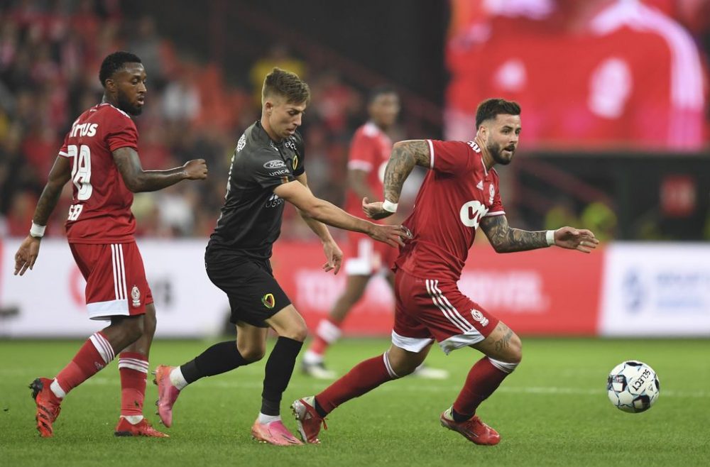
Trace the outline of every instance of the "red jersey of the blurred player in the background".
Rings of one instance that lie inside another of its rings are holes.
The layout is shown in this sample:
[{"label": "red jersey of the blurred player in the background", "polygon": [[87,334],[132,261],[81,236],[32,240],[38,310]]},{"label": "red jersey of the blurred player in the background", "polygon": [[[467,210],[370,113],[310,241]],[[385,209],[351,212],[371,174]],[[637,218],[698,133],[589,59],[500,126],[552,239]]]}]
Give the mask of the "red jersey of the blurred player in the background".
[{"label": "red jersey of the blurred player in the background", "polygon": [[[357,129],[350,143],[348,169],[368,172],[367,186],[376,199],[384,191],[385,167],[391,152],[391,139],[371,121]],[[345,210],[353,216],[365,217],[362,199],[351,189],[347,192]]]}]

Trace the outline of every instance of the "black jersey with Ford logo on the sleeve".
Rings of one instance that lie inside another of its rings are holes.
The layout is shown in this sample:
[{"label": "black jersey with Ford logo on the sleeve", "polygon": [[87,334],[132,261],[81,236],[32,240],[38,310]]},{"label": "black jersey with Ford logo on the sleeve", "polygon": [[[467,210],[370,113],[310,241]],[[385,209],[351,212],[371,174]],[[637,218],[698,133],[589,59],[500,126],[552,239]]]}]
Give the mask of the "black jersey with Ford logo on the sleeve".
[{"label": "black jersey with Ford logo on the sleeve", "polygon": [[256,259],[271,258],[271,246],[281,233],[284,201],[273,192],[305,171],[303,138],[293,136],[275,143],[260,121],[244,131],[231,158],[222,214],[207,251],[239,253]]}]

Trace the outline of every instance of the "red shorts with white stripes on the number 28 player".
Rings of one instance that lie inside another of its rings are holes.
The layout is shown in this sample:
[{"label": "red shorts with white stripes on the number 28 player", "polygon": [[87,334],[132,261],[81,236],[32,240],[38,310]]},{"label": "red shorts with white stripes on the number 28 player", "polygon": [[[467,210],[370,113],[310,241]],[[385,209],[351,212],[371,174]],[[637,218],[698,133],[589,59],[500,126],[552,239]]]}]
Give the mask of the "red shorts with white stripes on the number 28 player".
[{"label": "red shorts with white stripes on the number 28 player", "polygon": [[69,246],[87,280],[89,318],[109,320],[113,316],[143,314],[146,305],[153,303],[136,242]]}]

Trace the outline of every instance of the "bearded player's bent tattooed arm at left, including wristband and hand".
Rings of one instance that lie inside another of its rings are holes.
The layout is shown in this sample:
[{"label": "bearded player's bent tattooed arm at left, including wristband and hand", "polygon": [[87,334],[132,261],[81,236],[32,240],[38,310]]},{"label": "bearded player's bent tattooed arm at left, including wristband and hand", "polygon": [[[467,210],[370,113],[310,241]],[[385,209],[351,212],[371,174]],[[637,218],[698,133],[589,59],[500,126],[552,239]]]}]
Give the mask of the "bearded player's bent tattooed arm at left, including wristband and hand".
[{"label": "bearded player's bent tattooed arm at left, including wristband and hand", "polygon": [[[402,186],[415,165],[430,168],[431,153],[424,140],[398,141],[392,148],[390,160],[385,168],[385,200],[397,204]],[[382,202],[368,202],[363,199],[362,209],[371,219],[383,219],[394,214],[383,209]]]}]

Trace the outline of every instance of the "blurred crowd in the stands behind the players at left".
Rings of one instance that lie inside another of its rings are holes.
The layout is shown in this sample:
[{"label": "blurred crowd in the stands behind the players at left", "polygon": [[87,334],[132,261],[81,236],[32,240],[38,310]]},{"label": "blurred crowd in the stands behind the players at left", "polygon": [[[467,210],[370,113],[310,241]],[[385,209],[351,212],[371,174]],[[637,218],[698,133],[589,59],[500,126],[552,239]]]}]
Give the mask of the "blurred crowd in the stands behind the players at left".
[{"label": "blurred crowd in the stands behind the players at left", "polygon": [[[205,183],[136,194],[133,213],[142,236],[208,236],[224,199],[236,140],[261,113],[261,84],[274,66],[309,82],[312,104],[302,127],[309,185],[342,204],[349,139],[364,123],[364,95],[334,70],[308,70],[275,44],[245,70],[251,89],[227,84],[217,65],[181,57],[148,16],[126,18],[118,0],[17,1],[0,7],[0,235],[25,236],[33,209],[72,121],[101,100],[99,66],[115,50],[136,53],[148,72],[146,107],[138,116],[145,169],[165,169],[201,157]],[[64,235],[70,184],[48,224]],[[310,238],[287,209],[282,236]]]}]

